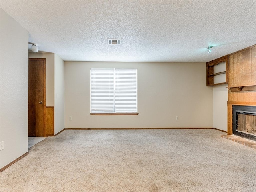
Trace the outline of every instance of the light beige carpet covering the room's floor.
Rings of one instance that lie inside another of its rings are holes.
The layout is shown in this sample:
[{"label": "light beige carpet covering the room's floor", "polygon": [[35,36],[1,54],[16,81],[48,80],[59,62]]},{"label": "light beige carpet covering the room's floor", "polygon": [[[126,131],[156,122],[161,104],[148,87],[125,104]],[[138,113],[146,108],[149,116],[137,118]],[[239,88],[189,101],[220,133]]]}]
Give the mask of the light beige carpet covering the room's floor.
[{"label": "light beige carpet covering the room's floor", "polygon": [[65,130],[0,173],[1,192],[255,192],[256,150],[217,130]]}]

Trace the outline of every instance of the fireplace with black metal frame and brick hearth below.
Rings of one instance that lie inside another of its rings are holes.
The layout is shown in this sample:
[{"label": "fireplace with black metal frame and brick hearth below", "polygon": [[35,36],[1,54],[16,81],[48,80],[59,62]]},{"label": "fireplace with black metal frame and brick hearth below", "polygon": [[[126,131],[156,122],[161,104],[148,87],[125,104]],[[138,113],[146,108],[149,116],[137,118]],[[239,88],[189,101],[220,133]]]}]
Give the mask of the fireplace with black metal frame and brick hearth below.
[{"label": "fireplace with black metal frame and brick hearth below", "polygon": [[232,106],[233,134],[256,141],[256,106]]}]

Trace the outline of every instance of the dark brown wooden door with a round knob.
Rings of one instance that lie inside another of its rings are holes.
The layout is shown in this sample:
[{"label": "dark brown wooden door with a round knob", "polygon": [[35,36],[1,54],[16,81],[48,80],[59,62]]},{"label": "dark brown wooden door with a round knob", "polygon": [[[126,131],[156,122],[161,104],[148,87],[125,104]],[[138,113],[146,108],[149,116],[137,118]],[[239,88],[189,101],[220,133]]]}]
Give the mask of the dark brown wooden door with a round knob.
[{"label": "dark brown wooden door with a round knob", "polygon": [[28,60],[28,136],[45,136],[44,58]]}]

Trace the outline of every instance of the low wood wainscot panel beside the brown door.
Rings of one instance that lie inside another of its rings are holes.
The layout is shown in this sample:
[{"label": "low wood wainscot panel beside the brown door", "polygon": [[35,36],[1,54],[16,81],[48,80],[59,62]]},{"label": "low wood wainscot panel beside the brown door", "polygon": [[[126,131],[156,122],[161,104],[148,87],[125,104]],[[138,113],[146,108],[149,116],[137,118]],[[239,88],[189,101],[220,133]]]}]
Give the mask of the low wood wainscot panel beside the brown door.
[{"label": "low wood wainscot panel beside the brown door", "polygon": [[54,136],[54,107],[46,107],[45,136]]}]

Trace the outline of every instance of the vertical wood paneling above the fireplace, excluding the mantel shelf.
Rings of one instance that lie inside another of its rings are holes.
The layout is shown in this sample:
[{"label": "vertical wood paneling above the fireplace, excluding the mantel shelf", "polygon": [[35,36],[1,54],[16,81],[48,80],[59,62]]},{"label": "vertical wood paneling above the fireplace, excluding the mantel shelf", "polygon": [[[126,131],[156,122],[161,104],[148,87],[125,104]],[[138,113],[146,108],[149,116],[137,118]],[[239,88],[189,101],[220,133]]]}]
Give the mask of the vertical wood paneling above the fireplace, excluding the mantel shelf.
[{"label": "vertical wood paneling above the fireplace, excluding the mantel shelf", "polygon": [[[256,46],[228,56],[228,87],[256,85]],[[232,92],[228,101],[256,102],[256,91]]]}]

